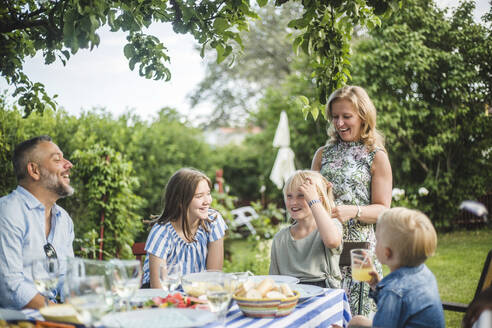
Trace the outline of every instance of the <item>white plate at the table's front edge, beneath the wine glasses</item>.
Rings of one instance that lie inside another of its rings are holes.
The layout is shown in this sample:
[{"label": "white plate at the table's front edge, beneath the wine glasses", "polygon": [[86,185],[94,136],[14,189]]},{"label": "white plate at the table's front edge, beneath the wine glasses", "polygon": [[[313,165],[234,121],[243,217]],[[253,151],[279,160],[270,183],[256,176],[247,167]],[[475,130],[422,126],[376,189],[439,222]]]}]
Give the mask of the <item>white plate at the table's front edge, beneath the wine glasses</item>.
[{"label": "white plate at the table's front edge, beneath the wine glasses", "polygon": [[104,327],[149,328],[149,327],[199,327],[216,320],[212,312],[195,309],[146,309],[111,313],[104,316]]}]

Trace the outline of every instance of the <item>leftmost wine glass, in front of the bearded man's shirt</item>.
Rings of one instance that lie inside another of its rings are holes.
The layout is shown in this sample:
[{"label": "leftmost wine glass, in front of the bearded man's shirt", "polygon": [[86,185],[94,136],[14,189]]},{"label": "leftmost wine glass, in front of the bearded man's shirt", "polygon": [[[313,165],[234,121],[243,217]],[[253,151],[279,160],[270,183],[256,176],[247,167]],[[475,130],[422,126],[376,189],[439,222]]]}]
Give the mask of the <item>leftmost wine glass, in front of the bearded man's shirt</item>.
[{"label": "leftmost wine glass, in front of the bearded man's shirt", "polygon": [[45,306],[48,306],[49,301],[54,301],[58,295],[60,262],[57,258],[33,259],[31,273],[36,289],[44,296]]}]

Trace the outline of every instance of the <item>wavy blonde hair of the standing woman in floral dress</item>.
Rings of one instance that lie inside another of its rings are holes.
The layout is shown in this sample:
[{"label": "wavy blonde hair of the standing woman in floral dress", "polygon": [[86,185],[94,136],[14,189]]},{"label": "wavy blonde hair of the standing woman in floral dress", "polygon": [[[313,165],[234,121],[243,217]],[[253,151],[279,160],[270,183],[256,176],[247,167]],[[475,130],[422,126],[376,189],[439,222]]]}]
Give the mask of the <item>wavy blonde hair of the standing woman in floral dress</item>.
[{"label": "wavy blonde hair of the standing woman in floral dress", "polygon": [[[369,149],[373,151],[375,148],[384,148],[384,137],[376,129],[376,107],[369,98],[366,90],[358,86],[347,85],[334,91],[328,98],[326,105],[326,117],[333,122],[332,106],[333,103],[338,100],[348,100],[354,105],[355,112],[359,115],[362,123],[360,128],[360,141]],[[328,136],[330,143],[336,143],[340,141],[335,126],[330,124],[328,129]]]}]

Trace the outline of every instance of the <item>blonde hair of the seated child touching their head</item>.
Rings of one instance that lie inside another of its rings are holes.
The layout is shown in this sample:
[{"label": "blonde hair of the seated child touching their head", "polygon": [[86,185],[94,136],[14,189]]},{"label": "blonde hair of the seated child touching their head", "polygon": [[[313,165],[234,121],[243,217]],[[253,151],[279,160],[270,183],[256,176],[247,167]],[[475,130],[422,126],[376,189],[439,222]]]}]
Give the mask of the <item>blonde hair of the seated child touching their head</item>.
[{"label": "blonde hair of the seated child touching their head", "polygon": [[306,179],[311,179],[311,182],[316,186],[321,204],[331,216],[331,209],[335,207],[333,191],[331,183],[326,180],[319,172],[311,170],[297,170],[285,182],[284,198],[288,192],[297,190]]}]

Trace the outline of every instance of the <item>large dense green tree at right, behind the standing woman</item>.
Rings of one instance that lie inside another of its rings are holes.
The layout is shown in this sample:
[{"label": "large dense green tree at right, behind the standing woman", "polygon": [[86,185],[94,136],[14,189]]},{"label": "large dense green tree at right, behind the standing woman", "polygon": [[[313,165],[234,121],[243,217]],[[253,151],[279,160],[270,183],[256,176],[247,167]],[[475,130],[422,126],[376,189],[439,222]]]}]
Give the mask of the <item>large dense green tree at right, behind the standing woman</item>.
[{"label": "large dense green tree at right, behind the standing woman", "polygon": [[433,1],[407,1],[353,60],[353,83],[378,108],[394,185],[426,187],[418,206],[440,225],[492,186],[492,15],[477,24],[473,9],[464,2],[448,17]]}]

